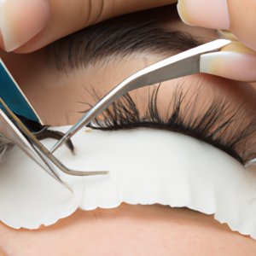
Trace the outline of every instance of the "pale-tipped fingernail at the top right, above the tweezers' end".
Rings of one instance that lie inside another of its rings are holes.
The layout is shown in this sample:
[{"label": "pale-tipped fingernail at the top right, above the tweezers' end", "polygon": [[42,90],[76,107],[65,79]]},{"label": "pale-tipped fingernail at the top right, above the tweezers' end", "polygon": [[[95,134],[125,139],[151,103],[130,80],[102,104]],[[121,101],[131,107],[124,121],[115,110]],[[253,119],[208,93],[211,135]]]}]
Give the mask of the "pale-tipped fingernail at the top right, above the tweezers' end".
[{"label": "pale-tipped fingernail at the top right, above the tweezers' end", "polygon": [[184,23],[214,29],[229,29],[227,0],[178,0],[177,11]]}]

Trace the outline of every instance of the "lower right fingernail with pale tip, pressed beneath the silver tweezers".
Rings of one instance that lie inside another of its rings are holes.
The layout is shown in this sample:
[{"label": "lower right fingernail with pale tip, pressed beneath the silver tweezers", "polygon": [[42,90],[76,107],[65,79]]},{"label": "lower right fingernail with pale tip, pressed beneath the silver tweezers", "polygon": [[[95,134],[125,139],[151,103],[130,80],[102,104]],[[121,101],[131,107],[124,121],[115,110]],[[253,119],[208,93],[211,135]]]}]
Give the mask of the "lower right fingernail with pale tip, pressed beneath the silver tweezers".
[{"label": "lower right fingernail with pale tip, pressed beneath the silver tweezers", "polygon": [[219,51],[201,55],[200,72],[244,82],[256,81],[256,54]]}]

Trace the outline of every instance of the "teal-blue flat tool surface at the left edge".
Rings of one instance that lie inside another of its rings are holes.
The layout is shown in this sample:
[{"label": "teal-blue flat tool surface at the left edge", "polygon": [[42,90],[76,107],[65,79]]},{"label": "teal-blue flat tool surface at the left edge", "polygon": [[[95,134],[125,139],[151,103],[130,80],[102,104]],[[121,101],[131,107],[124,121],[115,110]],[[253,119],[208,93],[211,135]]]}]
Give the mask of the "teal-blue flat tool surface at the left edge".
[{"label": "teal-blue flat tool surface at the left edge", "polygon": [[[38,115],[32,108],[32,105],[26,99],[26,96],[20,90],[19,85],[15,82],[15,79],[9,73],[7,67],[0,59],[0,97],[3,102],[11,109],[12,112],[18,114],[26,119],[31,119],[40,123]],[[0,103],[0,108],[3,105]]]}]

